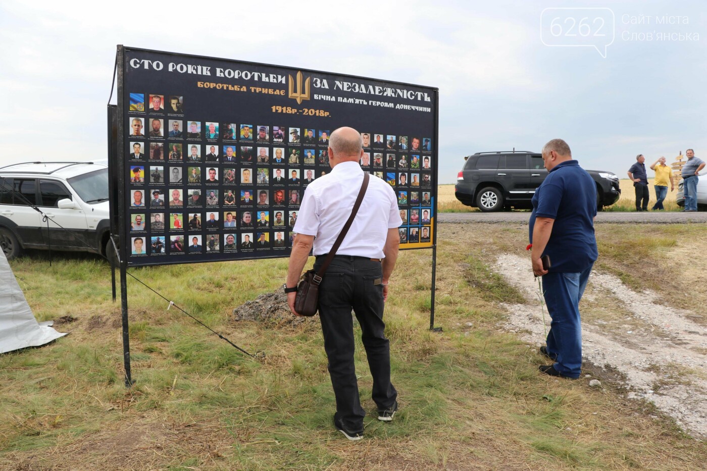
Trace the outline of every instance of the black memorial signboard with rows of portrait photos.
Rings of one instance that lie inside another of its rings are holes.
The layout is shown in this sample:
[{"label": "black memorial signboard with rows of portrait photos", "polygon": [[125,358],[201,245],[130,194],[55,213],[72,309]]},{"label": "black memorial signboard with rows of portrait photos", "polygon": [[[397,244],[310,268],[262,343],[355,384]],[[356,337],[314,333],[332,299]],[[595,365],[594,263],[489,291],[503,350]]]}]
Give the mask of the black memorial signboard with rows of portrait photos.
[{"label": "black memorial signboard with rows of portrait photos", "polygon": [[341,126],[398,195],[400,248],[435,244],[437,88],[129,47],[118,67],[128,265],[287,257]]}]

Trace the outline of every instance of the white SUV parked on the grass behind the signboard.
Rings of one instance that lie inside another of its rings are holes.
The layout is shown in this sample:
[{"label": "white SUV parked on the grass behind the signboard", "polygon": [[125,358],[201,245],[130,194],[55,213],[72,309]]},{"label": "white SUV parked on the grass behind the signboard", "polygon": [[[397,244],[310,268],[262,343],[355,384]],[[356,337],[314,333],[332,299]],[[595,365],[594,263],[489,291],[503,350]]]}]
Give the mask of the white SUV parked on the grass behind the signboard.
[{"label": "white SUV parked on the grass behind the signboard", "polygon": [[[56,223],[50,220],[47,228],[32,205]],[[31,162],[0,168],[0,246],[8,259],[24,248],[50,246],[110,256],[115,250],[111,244],[107,251],[109,218],[105,165]]]}]

